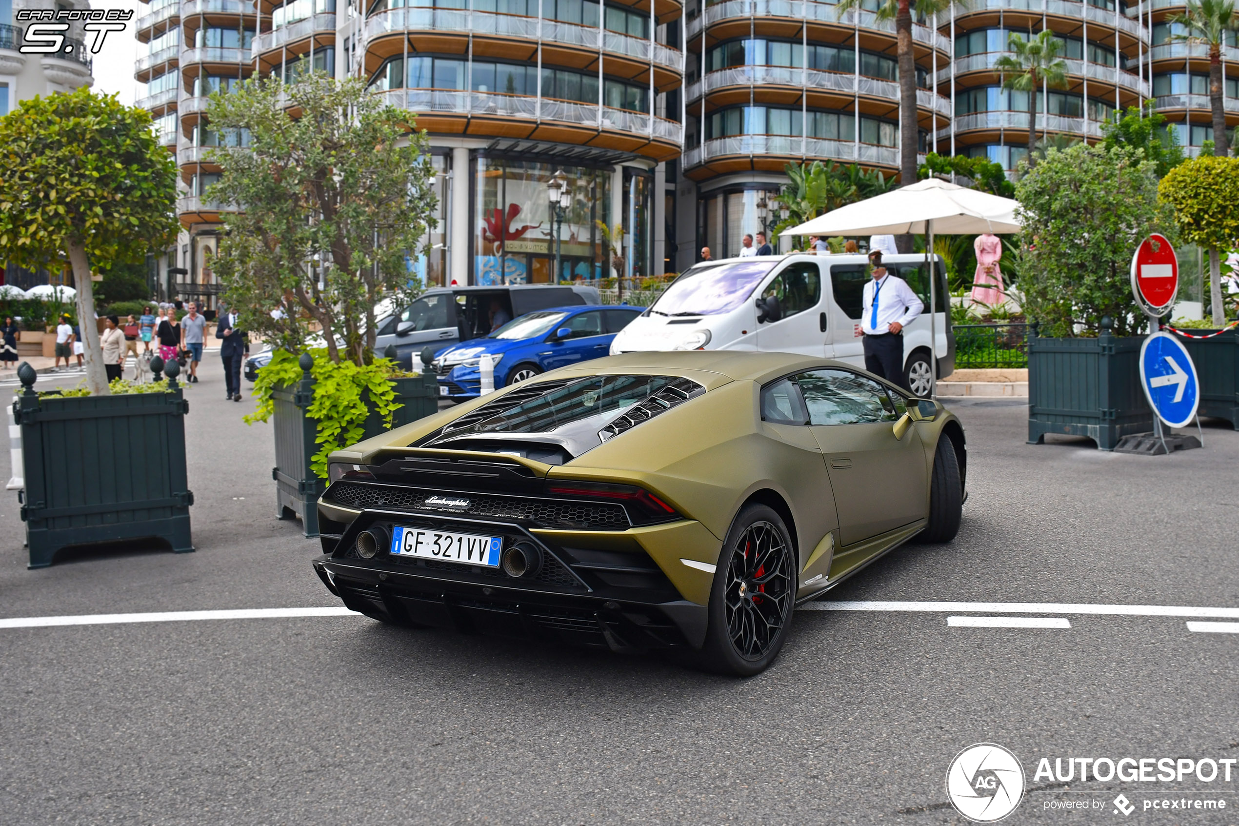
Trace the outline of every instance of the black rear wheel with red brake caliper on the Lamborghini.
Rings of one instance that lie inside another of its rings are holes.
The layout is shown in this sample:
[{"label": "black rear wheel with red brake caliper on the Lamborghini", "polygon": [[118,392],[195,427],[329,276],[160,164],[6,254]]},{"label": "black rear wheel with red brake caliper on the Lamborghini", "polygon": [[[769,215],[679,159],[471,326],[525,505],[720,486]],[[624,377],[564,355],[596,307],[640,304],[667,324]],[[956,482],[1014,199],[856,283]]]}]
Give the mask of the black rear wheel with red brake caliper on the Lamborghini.
[{"label": "black rear wheel with red brake caliper on the Lamborghini", "polygon": [[795,607],[795,555],[783,519],[766,505],[736,516],[715,571],[703,664],[751,676],[778,656]]}]

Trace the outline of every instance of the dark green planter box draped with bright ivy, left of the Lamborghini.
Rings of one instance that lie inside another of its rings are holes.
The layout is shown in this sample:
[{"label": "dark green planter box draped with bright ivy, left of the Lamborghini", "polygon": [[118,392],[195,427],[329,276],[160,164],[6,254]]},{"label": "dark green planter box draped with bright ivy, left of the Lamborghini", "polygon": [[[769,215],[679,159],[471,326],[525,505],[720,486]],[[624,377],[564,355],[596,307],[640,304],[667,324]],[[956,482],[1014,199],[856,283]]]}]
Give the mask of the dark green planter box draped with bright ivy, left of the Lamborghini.
[{"label": "dark green planter box draped with bright ivy, left of the Lamborghini", "polygon": [[[302,355],[300,364],[304,370],[301,380],[295,385],[278,386],[271,394],[275,407],[271,416],[275,426],[271,478],[275,480],[276,519],[300,519],[302,534],[315,539],[318,536],[318,497],[327,489],[327,480],[310,468],[313,454],[318,452],[315,442],[318,421],[306,415],[313,402],[315,379],[310,375],[313,362]],[[396,401],[404,405],[392,416],[392,427],[401,427],[437,412],[439,381],[432,373],[393,379],[392,384]],[[383,420],[372,411],[362,438],[378,436],[384,430]]]}]

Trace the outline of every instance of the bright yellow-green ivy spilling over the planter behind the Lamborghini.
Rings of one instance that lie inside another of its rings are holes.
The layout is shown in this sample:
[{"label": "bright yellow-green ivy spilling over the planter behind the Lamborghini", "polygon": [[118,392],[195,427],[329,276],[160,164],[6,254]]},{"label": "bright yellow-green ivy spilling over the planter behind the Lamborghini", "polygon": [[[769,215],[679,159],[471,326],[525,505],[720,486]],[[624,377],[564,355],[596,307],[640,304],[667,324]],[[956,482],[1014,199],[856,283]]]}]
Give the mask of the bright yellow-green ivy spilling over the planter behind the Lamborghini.
[{"label": "bright yellow-green ivy spilling over the planter behind the Lamborghini", "polygon": [[[392,427],[392,416],[404,406],[395,400],[392,379],[413,374],[385,358],[358,365],[347,360],[335,362],[325,347],[309,353],[313,358],[310,375],[315,379],[315,393],[306,415],[318,422],[315,443],[320,446],[310,467],[326,479],[327,457],[362,441],[366,420],[372,411],[378,414],[384,427]],[[245,416],[247,424],[268,421],[275,412],[275,389],[301,380],[297,359],[287,350],[275,350],[270,363],[258,370],[253,390],[258,405],[254,412]]]}]

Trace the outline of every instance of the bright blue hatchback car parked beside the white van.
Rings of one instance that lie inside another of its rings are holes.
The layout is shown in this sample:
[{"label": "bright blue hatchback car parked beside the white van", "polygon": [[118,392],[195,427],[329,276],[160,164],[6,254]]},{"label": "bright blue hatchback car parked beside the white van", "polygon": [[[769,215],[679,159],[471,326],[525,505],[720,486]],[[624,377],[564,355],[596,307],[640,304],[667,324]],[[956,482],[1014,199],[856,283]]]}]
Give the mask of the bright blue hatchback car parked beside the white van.
[{"label": "bright blue hatchback car parked beside the white van", "polygon": [[483,353],[494,362],[494,386],[524,381],[558,367],[602,358],[611,339],[644,307],[548,307],[513,318],[486,338],[450,347],[434,360],[439,395],[463,401],[481,395],[478,363]]}]

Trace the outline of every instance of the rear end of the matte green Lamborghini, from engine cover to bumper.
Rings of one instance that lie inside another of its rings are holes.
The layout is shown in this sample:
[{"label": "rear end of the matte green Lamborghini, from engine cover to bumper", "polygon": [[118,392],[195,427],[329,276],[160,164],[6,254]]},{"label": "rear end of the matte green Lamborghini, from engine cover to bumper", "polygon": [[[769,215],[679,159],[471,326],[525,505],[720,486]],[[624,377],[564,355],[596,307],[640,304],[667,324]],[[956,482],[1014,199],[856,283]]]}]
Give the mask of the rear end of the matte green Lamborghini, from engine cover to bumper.
[{"label": "rear end of the matte green Lamborghini, from engine cover to bumper", "polygon": [[554,376],[333,454],[315,561],[332,593],[394,624],[700,648],[712,565],[694,560],[717,531],[657,474],[574,461],[660,417],[683,428],[727,379]]}]

